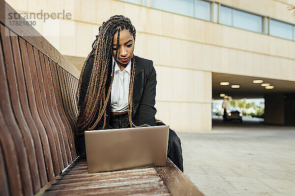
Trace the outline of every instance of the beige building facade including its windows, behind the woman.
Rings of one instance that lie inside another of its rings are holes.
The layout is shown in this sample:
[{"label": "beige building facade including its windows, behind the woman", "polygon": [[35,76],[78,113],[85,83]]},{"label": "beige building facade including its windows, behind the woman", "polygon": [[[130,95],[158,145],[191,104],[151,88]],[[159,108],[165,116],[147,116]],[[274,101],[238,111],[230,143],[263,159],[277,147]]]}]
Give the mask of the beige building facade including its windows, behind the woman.
[{"label": "beige building facade including its windows, behind the woman", "polygon": [[[102,22],[116,14],[130,18],[137,30],[135,55],[151,59],[156,69],[156,118],[177,131],[211,130],[211,100],[222,92],[233,98],[267,95],[266,113],[267,106],[278,107],[268,111],[283,110],[281,97],[295,92],[295,17],[289,10],[295,0],[7,2],[18,12],[71,13],[71,19],[48,20],[35,28],[79,70]],[[220,89],[227,77],[241,88]],[[260,78],[277,86],[259,92],[251,81]],[[247,79],[251,84],[244,85]],[[244,93],[238,93],[243,85]],[[291,87],[286,90],[286,85]]]}]

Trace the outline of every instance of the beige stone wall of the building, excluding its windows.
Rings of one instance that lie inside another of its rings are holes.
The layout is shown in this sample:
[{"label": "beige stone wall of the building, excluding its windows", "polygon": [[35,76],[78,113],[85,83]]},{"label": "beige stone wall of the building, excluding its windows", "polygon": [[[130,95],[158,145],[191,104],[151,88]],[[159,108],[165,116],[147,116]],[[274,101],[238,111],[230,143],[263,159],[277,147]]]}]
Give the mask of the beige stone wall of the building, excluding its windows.
[{"label": "beige stone wall of the building, excluding its windows", "polygon": [[[282,0],[217,1],[295,23]],[[156,117],[177,131],[211,130],[211,72],[295,81],[294,41],[118,0],[8,2],[19,11],[72,12],[72,20],[59,21],[59,36],[45,37],[62,54],[81,58],[103,21],[129,17],[137,29],[135,54],[153,60],[157,71]],[[36,28],[46,34],[48,26]]]}]

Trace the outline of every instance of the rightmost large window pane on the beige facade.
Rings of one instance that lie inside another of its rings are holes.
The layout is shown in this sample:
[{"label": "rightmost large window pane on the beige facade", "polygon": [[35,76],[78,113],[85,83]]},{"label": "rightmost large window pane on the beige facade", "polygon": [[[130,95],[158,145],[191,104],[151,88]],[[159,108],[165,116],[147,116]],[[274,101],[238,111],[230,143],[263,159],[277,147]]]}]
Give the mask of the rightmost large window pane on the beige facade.
[{"label": "rightmost large window pane on the beige facade", "polygon": [[269,35],[281,37],[292,40],[294,38],[294,25],[279,22],[276,20],[269,20]]}]

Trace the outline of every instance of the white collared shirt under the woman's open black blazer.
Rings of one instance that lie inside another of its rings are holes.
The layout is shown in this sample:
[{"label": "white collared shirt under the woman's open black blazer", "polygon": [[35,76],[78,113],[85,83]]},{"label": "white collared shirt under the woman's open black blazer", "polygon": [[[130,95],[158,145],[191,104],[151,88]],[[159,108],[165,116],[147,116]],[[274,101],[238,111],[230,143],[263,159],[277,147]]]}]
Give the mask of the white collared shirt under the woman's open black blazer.
[{"label": "white collared shirt under the woman's open black blazer", "polygon": [[[115,58],[113,57],[114,65]],[[111,92],[111,112],[128,111],[128,93],[131,73],[131,60],[126,68],[121,71],[117,62]]]}]

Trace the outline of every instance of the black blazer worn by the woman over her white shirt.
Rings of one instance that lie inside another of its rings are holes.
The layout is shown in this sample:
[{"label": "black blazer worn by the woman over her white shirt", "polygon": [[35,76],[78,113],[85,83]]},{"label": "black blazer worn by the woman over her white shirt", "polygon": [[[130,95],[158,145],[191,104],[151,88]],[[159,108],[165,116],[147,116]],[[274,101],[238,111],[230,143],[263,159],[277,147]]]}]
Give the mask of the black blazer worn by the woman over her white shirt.
[{"label": "black blazer worn by the woman over her white shirt", "polygon": [[[87,61],[84,74],[82,76],[81,93],[79,98],[80,108],[82,108],[83,102],[85,100],[87,88],[89,86],[89,80],[92,72],[94,62],[94,54],[89,56]],[[109,62],[109,73],[106,82],[106,92],[111,84],[111,73],[112,73],[112,58]],[[135,75],[133,84],[133,105],[132,105],[132,122],[136,125],[148,124],[151,126],[156,125],[155,114],[155,96],[156,96],[156,71],[153,67],[151,60],[144,59],[135,56]],[[109,98],[106,110],[107,110],[107,120],[105,129],[113,128],[110,126],[110,104],[111,98]],[[95,119],[97,119],[98,114],[96,114]],[[93,122],[94,123],[94,122]],[[102,129],[103,117],[97,123],[94,130]],[[78,134],[81,134],[82,130],[78,130]],[[84,132],[84,131],[83,131]],[[80,135],[79,134],[79,135]]]}]

